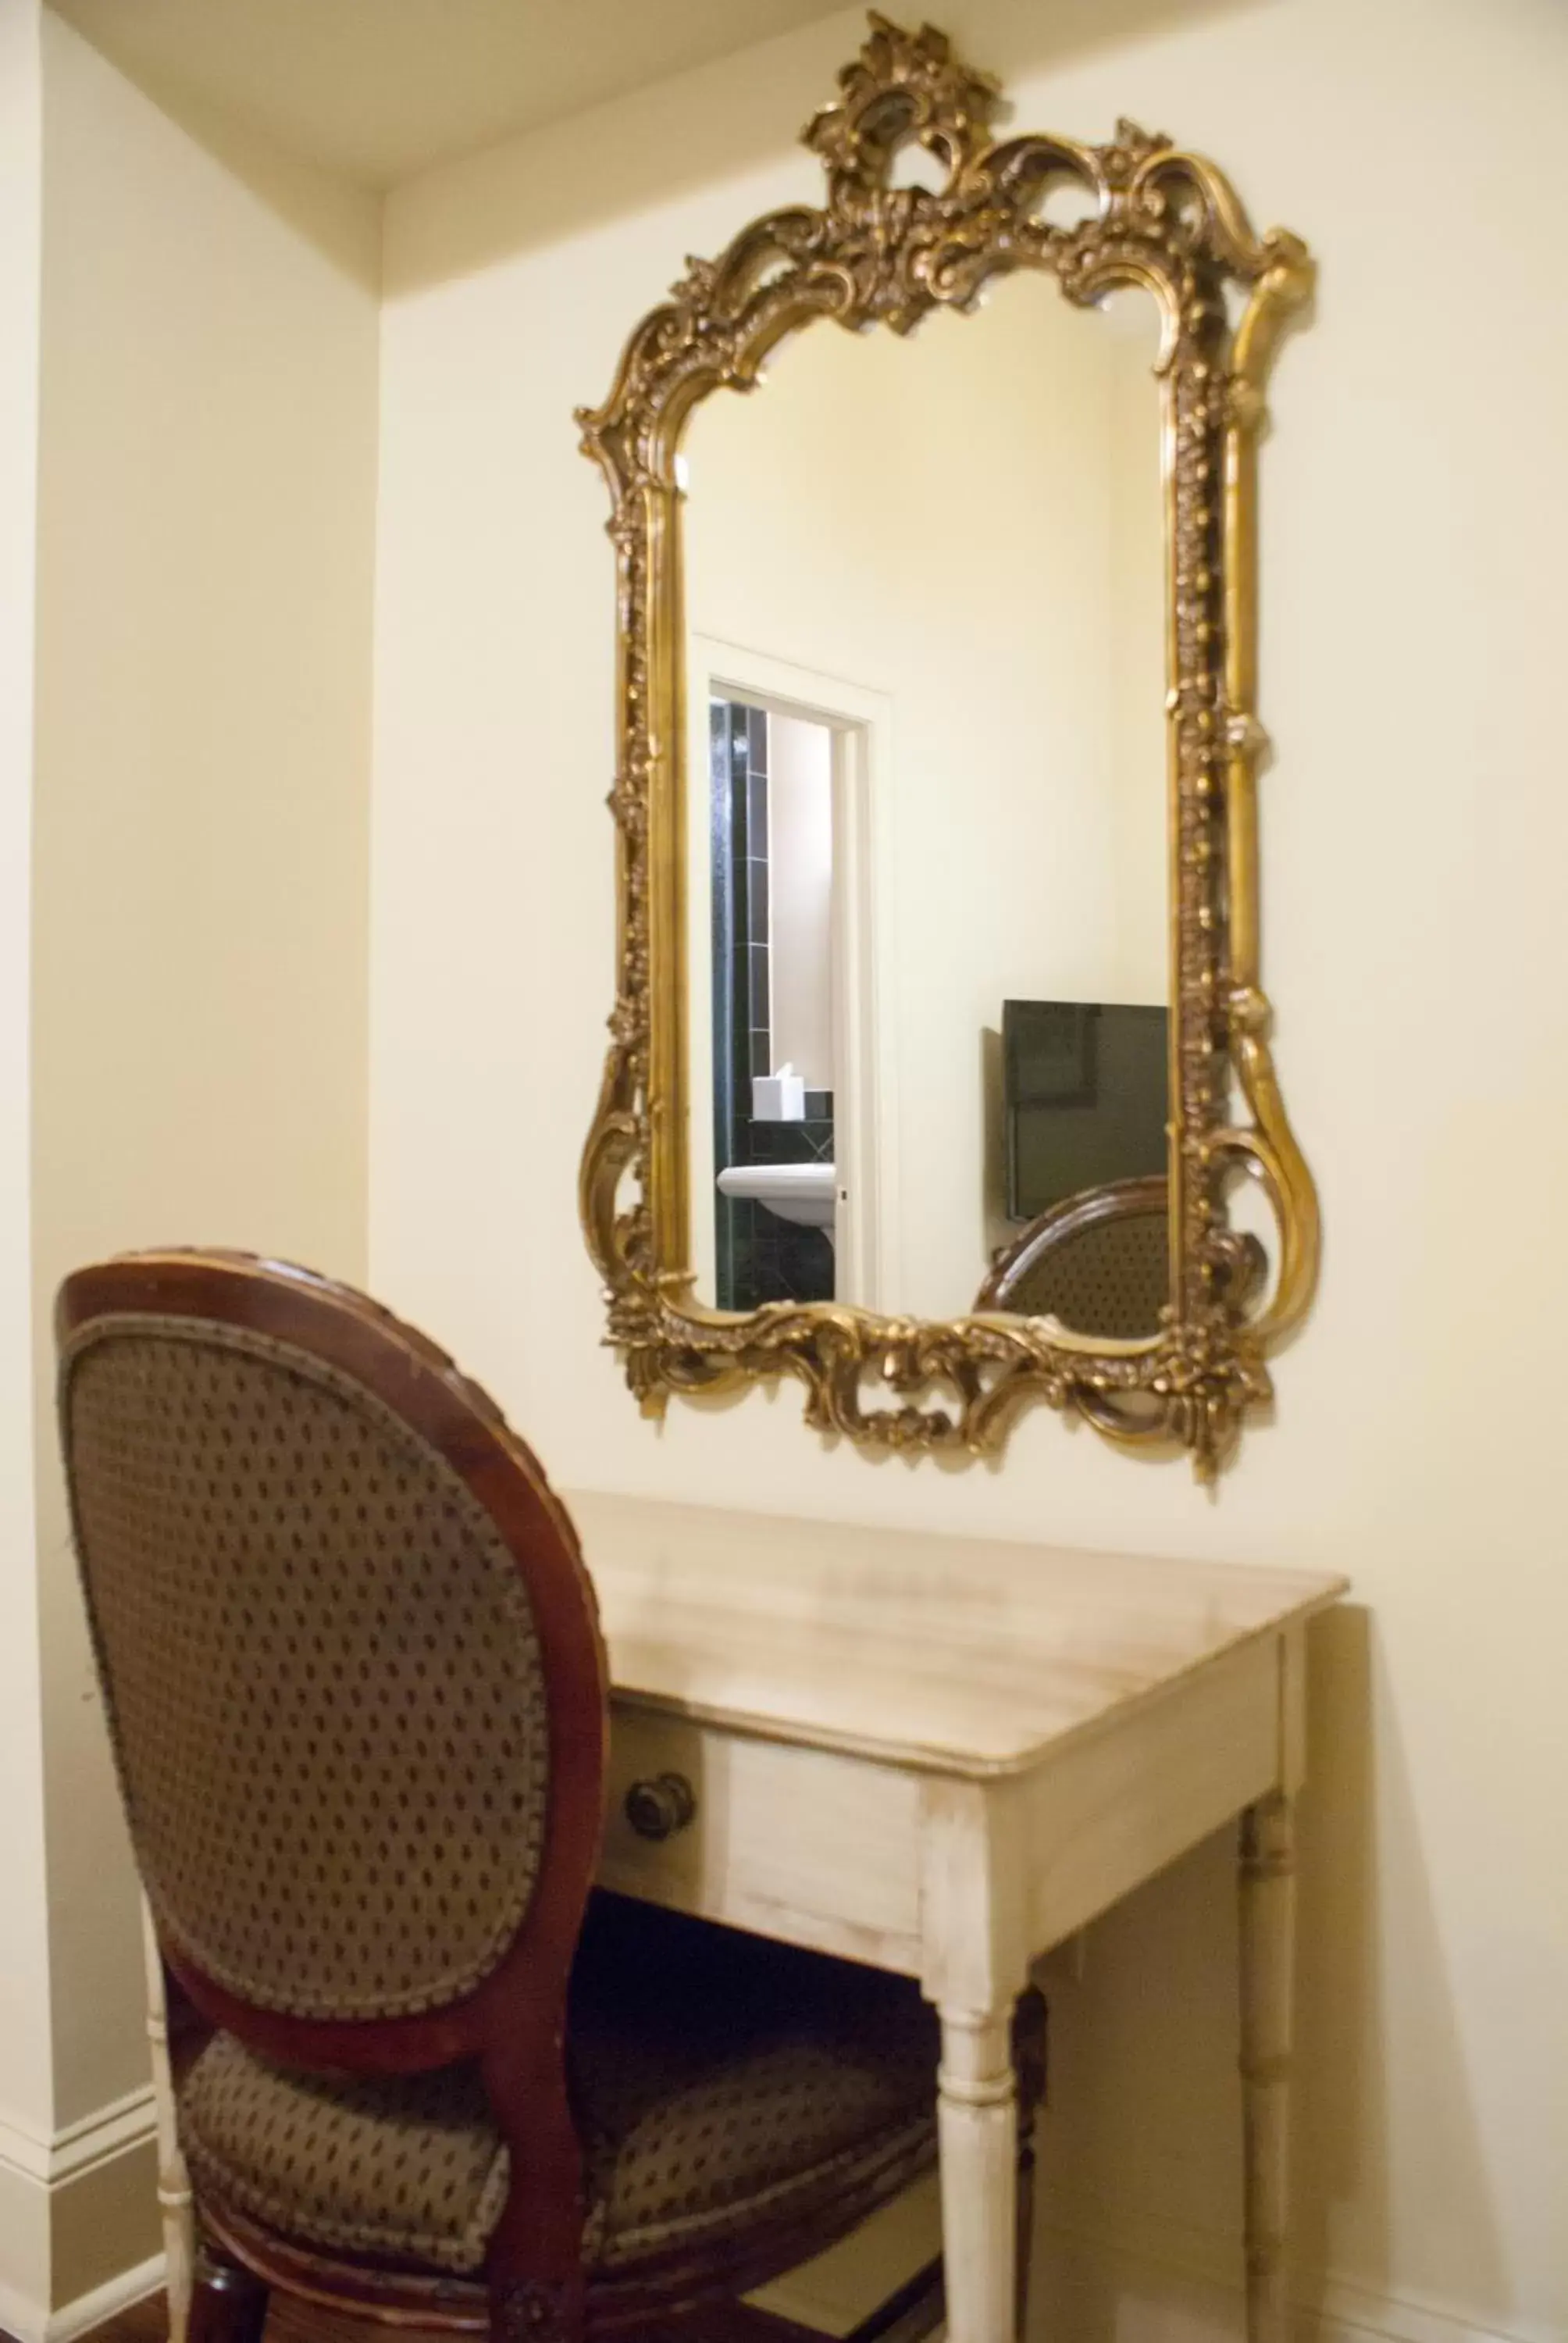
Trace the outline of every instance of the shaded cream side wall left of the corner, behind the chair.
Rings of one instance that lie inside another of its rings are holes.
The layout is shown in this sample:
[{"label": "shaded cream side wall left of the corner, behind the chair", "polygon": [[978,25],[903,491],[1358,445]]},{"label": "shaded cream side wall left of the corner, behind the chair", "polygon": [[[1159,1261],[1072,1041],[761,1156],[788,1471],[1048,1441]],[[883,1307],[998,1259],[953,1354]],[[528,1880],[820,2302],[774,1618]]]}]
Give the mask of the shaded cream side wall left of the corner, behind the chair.
[{"label": "shaded cream side wall left of the corner, behind the chair", "polygon": [[145,2038],[54,1286],[157,1242],[366,1265],[380,206],[197,143],[54,16],[42,197],[33,1307],[66,2125],[145,2081]]}]

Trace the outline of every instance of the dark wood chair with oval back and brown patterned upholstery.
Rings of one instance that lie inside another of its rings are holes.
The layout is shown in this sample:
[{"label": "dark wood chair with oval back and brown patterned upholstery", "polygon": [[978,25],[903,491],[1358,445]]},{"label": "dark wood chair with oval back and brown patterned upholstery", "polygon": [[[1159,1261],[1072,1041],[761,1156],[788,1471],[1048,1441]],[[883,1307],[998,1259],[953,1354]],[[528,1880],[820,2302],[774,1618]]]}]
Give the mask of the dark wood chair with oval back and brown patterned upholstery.
[{"label": "dark wood chair with oval back and brown patterned upholstery", "polygon": [[[434,1345],[241,1256],[59,1303],[61,1441],[171,2001],[192,2343],[795,2329],[741,2296],[933,2158],[912,1982],[591,1895],[572,1523]],[[178,2029],[176,2029],[178,2031]],[[1027,2092],[1031,2095],[1031,2092]]]}]

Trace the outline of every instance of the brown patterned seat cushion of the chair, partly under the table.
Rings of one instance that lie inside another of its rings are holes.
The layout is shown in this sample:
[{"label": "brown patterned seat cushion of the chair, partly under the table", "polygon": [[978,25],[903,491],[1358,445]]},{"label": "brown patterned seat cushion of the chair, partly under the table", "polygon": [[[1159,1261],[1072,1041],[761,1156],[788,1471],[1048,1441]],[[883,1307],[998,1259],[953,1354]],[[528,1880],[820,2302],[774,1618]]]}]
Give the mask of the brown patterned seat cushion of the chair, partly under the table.
[{"label": "brown patterned seat cushion of the chair, partly under the table", "polygon": [[[623,2270],[827,2216],[919,2165],[935,2052],[902,1977],[598,1895],[570,2013],[591,2261]],[[305,2076],[216,2034],[180,2137],[218,2205],[396,2263],[478,2270],[506,2198],[476,2067]]]}]

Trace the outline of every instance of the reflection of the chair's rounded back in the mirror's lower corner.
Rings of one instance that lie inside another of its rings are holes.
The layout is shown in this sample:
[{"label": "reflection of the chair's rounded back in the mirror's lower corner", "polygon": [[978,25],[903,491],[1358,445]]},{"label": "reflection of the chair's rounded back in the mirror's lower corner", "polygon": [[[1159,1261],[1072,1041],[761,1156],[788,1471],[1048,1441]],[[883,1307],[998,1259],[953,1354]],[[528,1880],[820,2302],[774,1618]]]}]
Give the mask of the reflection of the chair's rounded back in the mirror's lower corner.
[{"label": "reflection of the chair's rounded back in the mirror's lower corner", "polygon": [[1055,1317],[1118,1340],[1158,1333],[1170,1300],[1167,1195],[1155,1174],[1052,1204],[996,1256],[975,1310]]}]

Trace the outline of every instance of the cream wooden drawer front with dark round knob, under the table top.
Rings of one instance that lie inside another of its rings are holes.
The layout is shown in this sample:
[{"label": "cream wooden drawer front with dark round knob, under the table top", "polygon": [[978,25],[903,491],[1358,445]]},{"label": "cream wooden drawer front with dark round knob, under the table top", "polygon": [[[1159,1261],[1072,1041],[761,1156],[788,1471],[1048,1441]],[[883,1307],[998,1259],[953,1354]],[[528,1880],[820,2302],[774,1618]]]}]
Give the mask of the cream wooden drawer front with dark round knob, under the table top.
[{"label": "cream wooden drawer front with dark round knob, under the table top", "polygon": [[[689,1785],[659,1790],[666,1776]],[[628,1816],[628,1797],[645,1837]],[[649,1795],[654,1785],[656,1795]],[[612,1706],[600,1884],[792,1945],[919,1970],[919,1783]],[[661,1811],[663,1809],[663,1811]]]}]

